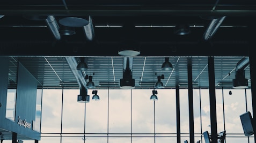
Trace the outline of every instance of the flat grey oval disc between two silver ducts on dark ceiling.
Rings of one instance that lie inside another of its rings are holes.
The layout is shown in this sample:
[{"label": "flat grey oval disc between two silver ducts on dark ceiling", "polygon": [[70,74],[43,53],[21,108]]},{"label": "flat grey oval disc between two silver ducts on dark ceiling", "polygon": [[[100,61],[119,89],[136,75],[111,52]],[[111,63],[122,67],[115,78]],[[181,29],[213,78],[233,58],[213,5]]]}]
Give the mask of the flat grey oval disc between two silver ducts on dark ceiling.
[{"label": "flat grey oval disc between two silver ducts on dark ceiling", "polygon": [[86,19],[78,17],[65,17],[58,20],[58,22],[68,27],[83,27],[89,23]]}]

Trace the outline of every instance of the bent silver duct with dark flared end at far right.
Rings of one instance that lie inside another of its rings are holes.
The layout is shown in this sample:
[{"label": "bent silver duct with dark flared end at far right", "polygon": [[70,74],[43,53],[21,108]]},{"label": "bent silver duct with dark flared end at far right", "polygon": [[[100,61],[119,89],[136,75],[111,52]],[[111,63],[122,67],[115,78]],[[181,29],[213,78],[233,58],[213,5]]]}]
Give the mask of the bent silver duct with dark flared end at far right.
[{"label": "bent silver duct with dark flared end at far right", "polygon": [[248,79],[245,78],[245,67],[249,65],[249,58],[242,58],[236,66],[235,79],[232,80],[233,88],[248,87]]}]

